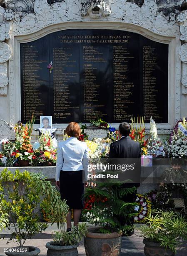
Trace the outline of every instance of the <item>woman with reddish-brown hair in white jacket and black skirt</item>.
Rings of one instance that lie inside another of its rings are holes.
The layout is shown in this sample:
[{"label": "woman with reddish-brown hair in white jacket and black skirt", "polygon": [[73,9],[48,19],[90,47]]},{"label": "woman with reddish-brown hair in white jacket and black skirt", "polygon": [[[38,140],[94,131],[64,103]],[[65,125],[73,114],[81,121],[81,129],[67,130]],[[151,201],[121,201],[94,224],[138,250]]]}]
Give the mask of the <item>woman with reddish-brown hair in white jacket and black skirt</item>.
[{"label": "woman with reddish-brown hair in white jacket and black skirt", "polygon": [[56,186],[60,188],[62,200],[65,199],[70,207],[66,218],[67,231],[70,231],[72,209],[74,225],[77,227],[81,209],[84,207],[89,156],[86,143],[77,140],[80,136],[80,126],[71,122],[66,128],[66,133],[70,137],[60,142],[57,148]]}]

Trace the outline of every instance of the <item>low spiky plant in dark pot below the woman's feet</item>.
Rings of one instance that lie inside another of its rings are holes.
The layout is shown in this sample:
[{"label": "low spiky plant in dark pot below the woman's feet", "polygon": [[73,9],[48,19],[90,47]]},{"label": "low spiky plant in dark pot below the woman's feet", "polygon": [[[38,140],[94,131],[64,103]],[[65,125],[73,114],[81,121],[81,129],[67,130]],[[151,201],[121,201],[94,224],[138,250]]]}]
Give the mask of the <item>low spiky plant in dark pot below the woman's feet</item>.
[{"label": "low spiky plant in dark pot below the woman's feet", "polygon": [[69,207],[63,211],[63,214],[56,215],[45,200],[45,211],[47,212],[47,219],[52,224],[57,222],[58,228],[60,227],[60,231],[55,231],[52,233],[53,241],[46,244],[47,256],[78,255],[77,247],[79,246],[79,242],[85,237],[87,233],[87,226],[86,223],[79,223],[78,227],[73,226],[71,231],[66,232],[65,217],[68,213],[68,209]]}]

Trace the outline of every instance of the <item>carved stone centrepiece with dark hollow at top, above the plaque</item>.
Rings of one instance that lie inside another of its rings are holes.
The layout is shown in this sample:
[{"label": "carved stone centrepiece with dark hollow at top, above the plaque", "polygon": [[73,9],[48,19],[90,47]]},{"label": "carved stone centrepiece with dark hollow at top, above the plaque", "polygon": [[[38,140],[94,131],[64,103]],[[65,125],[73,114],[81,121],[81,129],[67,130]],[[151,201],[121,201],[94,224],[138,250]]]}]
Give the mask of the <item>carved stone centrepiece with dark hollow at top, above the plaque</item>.
[{"label": "carved stone centrepiece with dark hollow at top, above the plaque", "polygon": [[81,15],[90,15],[94,19],[99,19],[101,15],[111,14],[110,0],[85,0],[82,1]]}]

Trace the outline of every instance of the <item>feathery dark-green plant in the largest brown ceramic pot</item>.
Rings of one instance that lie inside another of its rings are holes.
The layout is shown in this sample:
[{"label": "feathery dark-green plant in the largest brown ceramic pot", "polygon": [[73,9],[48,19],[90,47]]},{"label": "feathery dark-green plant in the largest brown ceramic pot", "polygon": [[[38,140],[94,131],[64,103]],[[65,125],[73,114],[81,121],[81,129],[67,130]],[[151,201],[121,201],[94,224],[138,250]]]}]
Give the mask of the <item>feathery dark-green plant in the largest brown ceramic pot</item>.
[{"label": "feathery dark-green plant in the largest brown ceramic pot", "polygon": [[[120,182],[97,182],[96,187],[87,188],[83,216],[96,227],[88,229],[85,237],[87,256],[120,255],[122,233],[132,229],[120,225],[116,215],[124,218],[135,216],[136,203],[126,203],[120,197],[134,192],[135,188],[122,188]],[[113,254],[112,254],[113,253]]]}]

